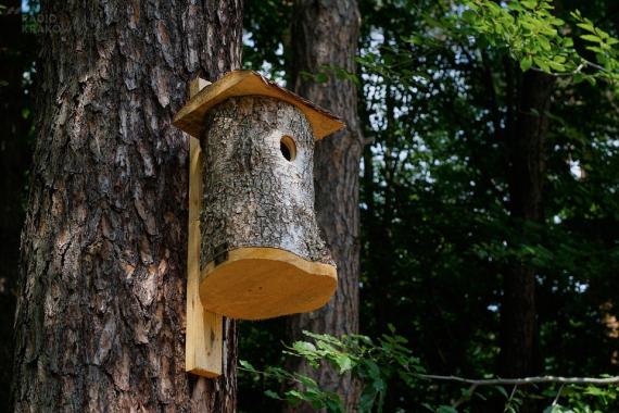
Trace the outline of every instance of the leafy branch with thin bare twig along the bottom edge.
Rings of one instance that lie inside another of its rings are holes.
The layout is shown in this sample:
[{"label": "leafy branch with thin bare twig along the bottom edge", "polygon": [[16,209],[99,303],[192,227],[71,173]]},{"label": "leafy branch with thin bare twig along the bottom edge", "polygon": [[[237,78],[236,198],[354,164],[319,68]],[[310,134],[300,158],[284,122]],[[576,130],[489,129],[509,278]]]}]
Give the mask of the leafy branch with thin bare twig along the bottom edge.
[{"label": "leafy branch with thin bare twig along the bottom edge", "polygon": [[[301,358],[310,366],[317,368],[321,363],[328,363],[339,374],[353,374],[361,380],[363,391],[358,402],[358,411],[382,412],[384,397],[389,385],[395,381],[404,384],[407,388],[421,389],[424,381],[451,381],[469,385],[463,389],[462,397],[452,400],[450,404],[432,406],[429,403],[421,403],[430,411],[439,413],[454,413],[462,405],[469,402],[473,396],[479,396],[482,387],[491,387],[505,397],[505,412],[517,412],[522,404],[525,393],[520,391],[523,386],[551,385],[542,396],[552,398],[552,403],[545,413],[560,412],[590,412],[589,403],[583,399],[583,395],[601,400],[605,404],[607,400],[617,397],[617,387],[609,386],[619,384],[619,376],[608,377],[560,377],[560,376],[539,376],[522,378],[483,378],[473,379],[459,376],[442,376],[427,374],[420,365],[420,361],[412,355],[412,351],[405,346],[404,337],[394,334],[391,327],[391,335],[382,335],[377,342],[367,336],[351,335],[341,338],[330,335],[320,335],[304,331],[311,341],[296,341],[292,347],[286,347],[286,354]],[[328,412],[343,413],[344,406],[339,395],[320,388],[320,385],[306,375],[290,373],[281,367],[269,366],[264,371],[255,368],[247,361],[240,362],[239,370],[252,375],[254,378],[268,378],[279,384],[287,384],[289,389],[283,391],[266,390],[265,396],[287,401],[293,405],[301,402],[308,402],[314,409],[326,409]],[[293,385],[293,386],[291,386]],[[435,386],[435,385],[432,385]],[[507,392],[505,386],[513,386]],[[609,386],[607,389],[602,386]],[[559,404],[559,399],[564,397],[571,408],[568,410]]]}]

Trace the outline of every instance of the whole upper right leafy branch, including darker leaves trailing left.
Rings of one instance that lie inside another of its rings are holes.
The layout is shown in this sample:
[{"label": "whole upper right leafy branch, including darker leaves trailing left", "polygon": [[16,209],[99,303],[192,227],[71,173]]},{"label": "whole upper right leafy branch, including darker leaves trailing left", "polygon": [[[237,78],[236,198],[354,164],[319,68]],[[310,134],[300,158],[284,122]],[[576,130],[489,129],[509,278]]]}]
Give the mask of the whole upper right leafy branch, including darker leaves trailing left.
[{"label": "whole upper right leafy branch, including darker leaves trailing left", "polygon": [[[617,84],[619,39],[596,27],[579,10],[570,13],[573,26],[555,16],[554,12],[552,0],[510,0],[505,3],[458,0],[443,16],[426,15],[430,27],[427,33],[432,36],[404,36],[403,43],[383,45],[376,52],[366,51],[357,62],[368,73],[418,86],[428,74],[409,68],[415,66],[415,57],[424,55],[428,50],[457,46],[470,60],[468,49],[492,48],[519,62],[523,72],[544,72],[555,77],[569,77],[573,83],[586,80],[595,85],[601,79]],[[577,28],[583,33],[577,35]]]}]

